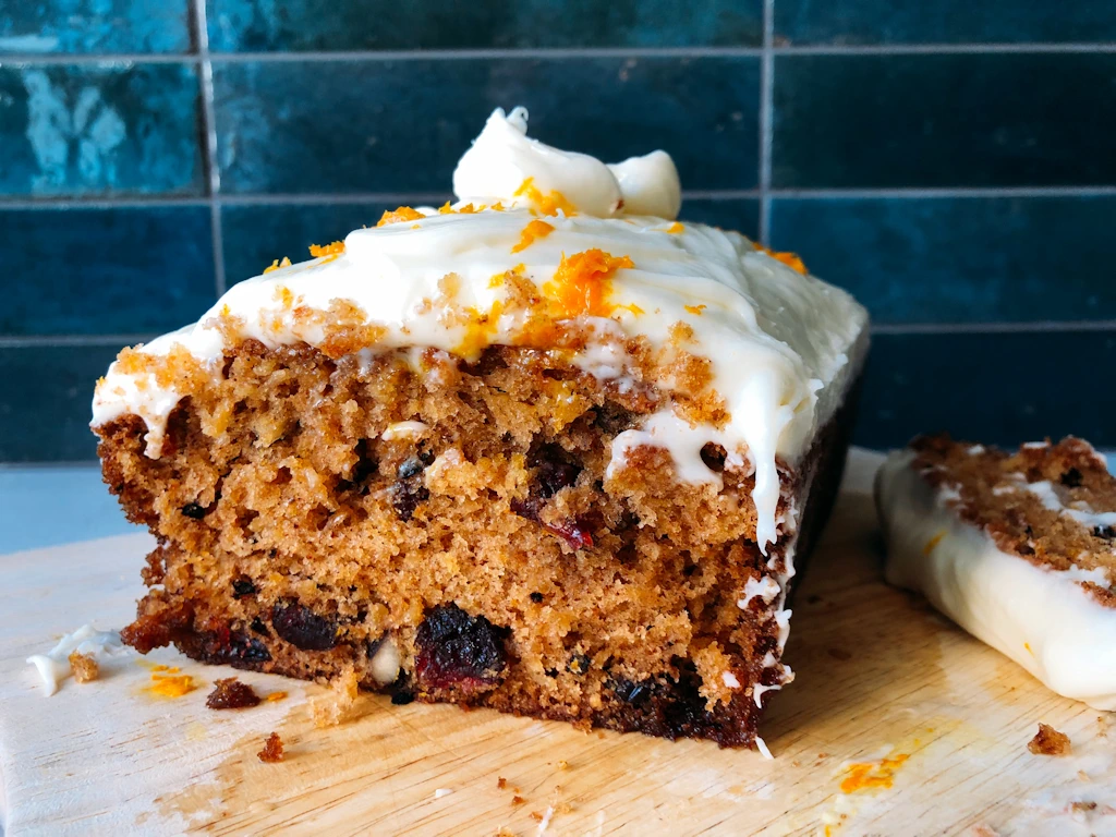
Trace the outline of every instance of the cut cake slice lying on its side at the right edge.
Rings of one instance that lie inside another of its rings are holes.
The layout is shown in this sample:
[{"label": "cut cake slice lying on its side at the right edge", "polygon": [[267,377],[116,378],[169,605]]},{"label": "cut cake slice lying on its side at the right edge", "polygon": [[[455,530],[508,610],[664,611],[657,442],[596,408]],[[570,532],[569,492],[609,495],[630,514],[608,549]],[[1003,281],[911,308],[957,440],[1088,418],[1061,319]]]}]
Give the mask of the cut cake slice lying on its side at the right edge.
[{"label": "cut cake slice lying on its side at the right edge", "polygon": [[1116,710],[1116,479],[1080,439],[916,439],[876,478],[887,580],[1048,687]]}]

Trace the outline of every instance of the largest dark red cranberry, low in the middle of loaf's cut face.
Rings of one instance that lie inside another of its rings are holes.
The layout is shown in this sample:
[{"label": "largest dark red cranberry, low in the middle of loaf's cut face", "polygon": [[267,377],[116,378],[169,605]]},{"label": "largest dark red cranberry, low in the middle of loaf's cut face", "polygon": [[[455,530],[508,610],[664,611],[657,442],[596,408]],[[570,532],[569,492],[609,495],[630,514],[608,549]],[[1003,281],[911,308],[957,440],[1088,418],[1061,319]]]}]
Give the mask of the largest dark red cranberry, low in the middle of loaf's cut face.
[{"label": "largest dark red cranberry, low in the middle of loaf's cut face", "polygon": [[415,634],[415,675],[421,689],[482,691],[500,681],[508,667],[506,629],[456,605],[439,605]]}]

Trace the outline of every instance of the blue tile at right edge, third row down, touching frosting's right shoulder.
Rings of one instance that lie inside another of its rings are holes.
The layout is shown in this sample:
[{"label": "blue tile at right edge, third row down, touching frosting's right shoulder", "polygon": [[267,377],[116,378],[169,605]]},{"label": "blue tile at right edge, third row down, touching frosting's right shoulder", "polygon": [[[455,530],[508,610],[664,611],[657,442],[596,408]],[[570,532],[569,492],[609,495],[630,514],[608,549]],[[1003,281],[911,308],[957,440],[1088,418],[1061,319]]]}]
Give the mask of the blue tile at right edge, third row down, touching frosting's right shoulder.
[{"label": "blue tile at right edge, third row down, touching frosting's right shoulder", "polygon": [[1116,198],[783,199],[772,247],[875,323],[1116,319]]}]

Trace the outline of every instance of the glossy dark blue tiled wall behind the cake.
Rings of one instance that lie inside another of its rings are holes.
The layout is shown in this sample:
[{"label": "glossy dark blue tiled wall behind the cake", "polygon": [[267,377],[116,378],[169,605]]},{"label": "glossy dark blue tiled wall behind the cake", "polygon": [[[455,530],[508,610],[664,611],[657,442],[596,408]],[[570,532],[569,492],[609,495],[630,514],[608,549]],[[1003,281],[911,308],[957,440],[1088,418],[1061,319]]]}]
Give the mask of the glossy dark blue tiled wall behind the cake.
[{"label": "glossy dark blue tiled wall behind the cake", "polygon": [[0,15],[0,461],[277,257],[449,198],[492,107],[874,316],[858,441],[1116,445],[1112,0],[41,0]]}]

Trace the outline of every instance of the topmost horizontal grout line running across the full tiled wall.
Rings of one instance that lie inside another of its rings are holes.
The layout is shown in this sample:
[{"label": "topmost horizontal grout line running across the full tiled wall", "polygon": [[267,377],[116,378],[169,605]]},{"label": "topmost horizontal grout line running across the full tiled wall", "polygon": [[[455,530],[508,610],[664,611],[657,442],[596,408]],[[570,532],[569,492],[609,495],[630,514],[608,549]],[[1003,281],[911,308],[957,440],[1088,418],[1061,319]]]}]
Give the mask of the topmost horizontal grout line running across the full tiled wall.
[{"label": "topmost horizontal grout line running across the full tiled wall", "polygon": [[[194,0],[196,2],[196,0]],[[204,1],[204,0],[202,0]],[[766,17],[766,13],[764,13]],[[206,38],[208,40],[208,38]],[[199,42],[199,47],[202,44]],[[208,47],[208,45],[206,45]],[[410,61],[410,60],[462,60],[462,59],[561,59],[561,58],[733,58],[762,57],[766,51],[776,55],[950,55],[950,54],[1090,54],[1116,52],[1116,42],[1098,44],[865,44],[865,45],[796,45],[780,44],[759,47],[549,47],[531,49],[406,49],[406,50],[339,50],[324,52],[209,52],[213,61],[246,64],[266,61],[307,64],[321,61]],[[115,52],[100,55],[11,54],[0,55],[0,64],[196,64],[200,55],[180,52],[174,55],[153,52]]]}]

